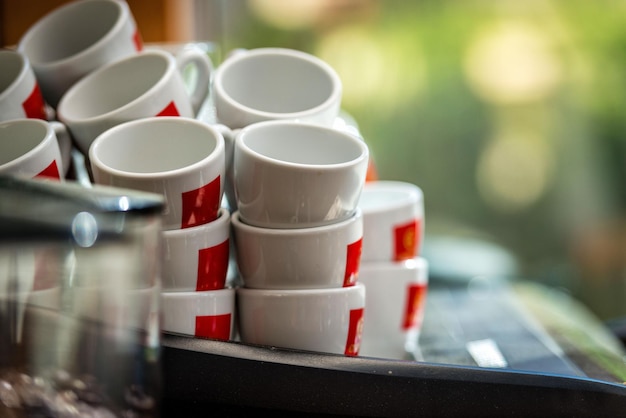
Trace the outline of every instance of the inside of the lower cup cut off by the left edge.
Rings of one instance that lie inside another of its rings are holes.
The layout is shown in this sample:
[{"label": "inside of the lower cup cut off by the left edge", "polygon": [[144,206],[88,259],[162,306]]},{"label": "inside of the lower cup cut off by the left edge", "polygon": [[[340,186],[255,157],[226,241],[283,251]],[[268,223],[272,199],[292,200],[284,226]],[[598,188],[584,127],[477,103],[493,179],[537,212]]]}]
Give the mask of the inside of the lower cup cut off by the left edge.
[{"label": "inside of the lower cup cut off by the left edge", "polygon": [[37,148],[48,134],[45,122],[16,120],[0,125],[0,165]]}]

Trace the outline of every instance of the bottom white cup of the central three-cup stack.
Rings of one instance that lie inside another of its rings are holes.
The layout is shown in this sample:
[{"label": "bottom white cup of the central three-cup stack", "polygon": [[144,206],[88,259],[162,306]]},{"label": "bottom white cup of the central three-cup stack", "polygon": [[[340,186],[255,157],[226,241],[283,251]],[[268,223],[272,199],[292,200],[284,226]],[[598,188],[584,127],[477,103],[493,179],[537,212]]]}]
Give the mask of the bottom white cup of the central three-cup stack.
[{"label": "bottom white cup of the central three-cup stack", "polygon": [[357,356],[365,287],[237,289],[242,342]]}]

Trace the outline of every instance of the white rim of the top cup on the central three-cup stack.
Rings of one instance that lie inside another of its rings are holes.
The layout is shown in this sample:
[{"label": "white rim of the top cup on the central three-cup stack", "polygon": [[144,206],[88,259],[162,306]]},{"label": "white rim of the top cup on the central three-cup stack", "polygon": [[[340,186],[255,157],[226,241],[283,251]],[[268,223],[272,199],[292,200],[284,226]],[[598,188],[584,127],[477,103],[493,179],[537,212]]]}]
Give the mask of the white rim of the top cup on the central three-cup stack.
[{"label": "white rim of the top cup on the central three-cup stack", "polygon": [[[348,161],[338,162],[338,163],[330,163],[330,164],[314,164],[314,163],[297,163],[292,161],[280,160],[277,158],[273,158],[258,152],[257,150],[251,148],[245,142],[245,136],[250,135],[250,132],[257,131],[259,129],[264,129],[267,127],[277,126],[279,128],[283,127],[298,127],[302,129],[306,129],[309,131],[317,130],[322,131],[326,134],[335,135],[338,138],[344,138],[345,141],[349,141],[351,144],[354,144],[356,148],[359,149],[359,154]],[[324,171],[333,171],[333,170],[342,170],[346,167],[352,167],[358,165],[363,160],[369,160],[369,148],[365,141],[361,138],[358,138],[352,135],[349,132],[340,131],[328,126],[318,125],[311,122],[302,122],[297,120],[268,120],[263,122],[257,122],[251,125],[242,128],[235,137],[235,148],[238,148],[240,151],[245,152],[250,155],[252,158],[262,161],[264,163],[271,163],[272,165],[284,167],[284,168],[296,168],[302,171],[312,171],[318,172],[320,170]]]}]

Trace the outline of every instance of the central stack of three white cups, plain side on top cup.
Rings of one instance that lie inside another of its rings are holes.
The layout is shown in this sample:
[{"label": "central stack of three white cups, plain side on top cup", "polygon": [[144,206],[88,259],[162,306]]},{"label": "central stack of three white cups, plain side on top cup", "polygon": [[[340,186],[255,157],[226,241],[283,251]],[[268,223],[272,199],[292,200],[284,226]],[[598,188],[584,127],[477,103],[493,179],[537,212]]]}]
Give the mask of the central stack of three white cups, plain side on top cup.
[{"label": "central stack of three white cups, plain side on top cup", "polygon": [[231,222],[241,341],[358,355],[357,204],[368,158],[361,139],[320,125],[267,121],[237,134]]}]

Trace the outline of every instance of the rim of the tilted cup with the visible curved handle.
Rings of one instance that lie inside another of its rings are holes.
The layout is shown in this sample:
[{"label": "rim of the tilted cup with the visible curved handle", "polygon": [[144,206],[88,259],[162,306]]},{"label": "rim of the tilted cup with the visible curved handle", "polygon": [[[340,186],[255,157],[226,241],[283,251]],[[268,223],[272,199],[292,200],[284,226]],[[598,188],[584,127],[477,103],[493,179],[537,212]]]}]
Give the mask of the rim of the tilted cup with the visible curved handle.
[{"label": "rim of the tilted cup with the visible curved handle", "polygon": [[[106,74],[107,72],[111,71],[111,68],[116,68],[116,67],[119,67],[120,65],[124,65],[128,61],[136,61],[139,59],[144,59],[144,57],[146,56],[159,56],[159,57],[164,58],[167,61],[167,68],[165,69],[165,72],[162,74],[161,78],[154,85],[152,85],[148,90],[143,92],[141,95],[135,97],[131,101],[123,104],[122,106],[109,110],[108,112],[105,112],[105,113],[100,113],[98,115],[92,115],[88,117],[76,117],[75,115],[71,113],[70,114],[67,113],[70,103],[76,100],[74,97],[77,94],[79,94],[81,90],[85,88],[85,86],[88,86],[91,83],[93,83],[94,82],[93,80],[96,80],[98,77],[102,77],[103,74]],[[61,96],[61,99],[59,100],[59,104],[57,105],[57,117],[63,123],[67,125],[73,125],[73,124],[90,124],[90,123],[102,122],[107,119],[110,119],[111,117],[115,115],[123,114],[128,111],[128,108],[134,106],[136,103],[143,100],[145,97],[148,97],[154,94],[155,91],[160,89],[161,86],[167,82],[167,78],[169,78],[169,75],[174,73],[175,71],[176,71],[176,62],[175,62],[174,57],[170,53],[166,51],[161,51],[158,49],[145,49],[143,51],[137,52],[136,54],[128,55],[118,60],[111,61],[108,64],[85,75],[83,78],[81,78],[72,86],[70,86],[70,88],[65,93],[63,93],[63,95]]]}]

